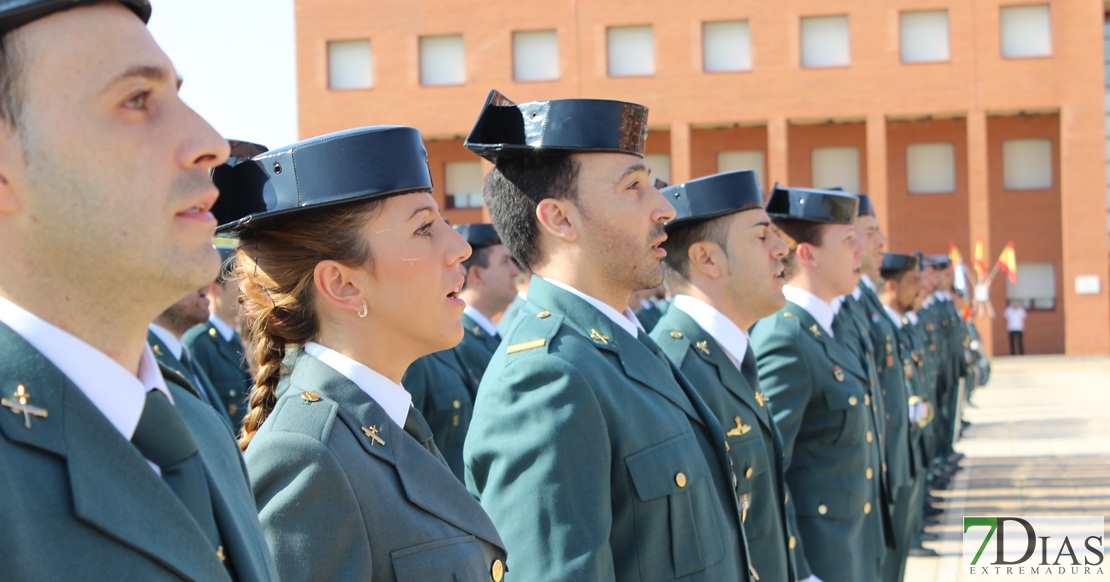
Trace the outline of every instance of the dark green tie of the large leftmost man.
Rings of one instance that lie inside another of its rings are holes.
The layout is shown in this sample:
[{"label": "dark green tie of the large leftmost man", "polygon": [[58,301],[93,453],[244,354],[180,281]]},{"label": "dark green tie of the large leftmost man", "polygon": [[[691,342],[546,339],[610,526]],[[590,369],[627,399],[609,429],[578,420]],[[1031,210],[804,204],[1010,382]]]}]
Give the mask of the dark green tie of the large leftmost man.
[{"label": "dark green tie of the large leftmost man", "polygon": [[147,393],[147,403],[131,443],[162,471],[162,480],[189,510],[208,535],[212,546],[219,546],[219,530],[212,514],[204,464],[198,454],[196,441],[184,419],[159,390]]}]

